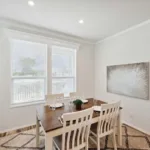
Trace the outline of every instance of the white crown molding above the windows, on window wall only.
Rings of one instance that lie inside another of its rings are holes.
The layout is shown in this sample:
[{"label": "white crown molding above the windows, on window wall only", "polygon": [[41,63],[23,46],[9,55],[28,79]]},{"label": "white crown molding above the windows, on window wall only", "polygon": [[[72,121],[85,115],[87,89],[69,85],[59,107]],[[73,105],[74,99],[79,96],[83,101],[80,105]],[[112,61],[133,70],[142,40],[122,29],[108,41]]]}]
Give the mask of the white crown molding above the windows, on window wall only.
[{"label": "white crown molding above the windows, on window wall only", "polygon": [[48,28],[27,24],[27,23],[12,20],[9,18],[0,17],[0,27],[43,35],[46,37],[53,37],[53,39],[62,39],[68,42],[74,41],[74,42],[79,42],[79,43],[95,44],[95,42],[92,40],[65,34],[65,33],[58,32],[58,31],[53,31]]}]

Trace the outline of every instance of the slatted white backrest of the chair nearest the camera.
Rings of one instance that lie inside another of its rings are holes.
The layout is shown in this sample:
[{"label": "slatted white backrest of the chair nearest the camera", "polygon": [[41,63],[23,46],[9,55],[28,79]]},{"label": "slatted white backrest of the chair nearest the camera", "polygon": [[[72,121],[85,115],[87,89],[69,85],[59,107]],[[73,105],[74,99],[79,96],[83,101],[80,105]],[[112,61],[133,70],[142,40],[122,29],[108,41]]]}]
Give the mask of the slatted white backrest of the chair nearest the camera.
[{"label": "slatted white backrest of the chair nearest the camera", "polygon": [[62,150],[80,150],[88,146],[93,108],[63,115]]}]

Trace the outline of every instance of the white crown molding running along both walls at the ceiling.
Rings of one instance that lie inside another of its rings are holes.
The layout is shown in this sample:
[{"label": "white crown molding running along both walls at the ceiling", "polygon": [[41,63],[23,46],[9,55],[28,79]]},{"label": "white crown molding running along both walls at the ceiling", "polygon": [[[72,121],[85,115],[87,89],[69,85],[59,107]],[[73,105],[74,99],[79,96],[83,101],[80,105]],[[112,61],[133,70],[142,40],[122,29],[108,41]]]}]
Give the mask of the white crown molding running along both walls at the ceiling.
[{"label": "white crown molding running along both walls at the ceiling", "polygon": [[[94,42],[92,40],[87,40],[87,39],[83,39],[83,38],[76,37],[76,36],[73,36],[73,35],[57,32],[57,31],[52,31],[52,30],[47,29],[47,28],[42,28],[42,27],[39,27],[39,26],[26,24],[26,23],[19,22],[19,21],[16,21],[16,20],[11,20],[11,19],[7,19],[7,18],[0,18],[0,27],[2,27],[2,28],[5,27],[7,29],[24,31],[24,32],[28,32],[28,33],[38,34],[38,35],[42,34],[45,37],[51,37],[51,36],[54,37],[55,36],[55,37],[60,37],[60,38],[53,38],[53,39],[63,39],[64,41],[68,41],[68,42],[76,41],[76,42],[79,42],[79,43],[87,43],[87,44],[92,44],[92,45],[99,44],[103,41],[106,41],[106,40],[109,40],[109,39],[114,38],[116,36],[122,35],[126,32],[129,32],[131,30],[139,28],[139,27],[141,27],[143,25],[146,25],[148,23],[150,23],[150,19],[148,19],[148,20],[146,20],[142,23],[136,24],[134,26],[131,26],[131,27],[129,27],[129,28],[127,28],[127,29],[125,29],[121,32],[118,32],[118,33],[114,34],[114,35],[108,36],[108,37],[104,38],[103,40],[99,40],[97,42]],[[69,38],[69,40],[65,40],[66,38]]]}]

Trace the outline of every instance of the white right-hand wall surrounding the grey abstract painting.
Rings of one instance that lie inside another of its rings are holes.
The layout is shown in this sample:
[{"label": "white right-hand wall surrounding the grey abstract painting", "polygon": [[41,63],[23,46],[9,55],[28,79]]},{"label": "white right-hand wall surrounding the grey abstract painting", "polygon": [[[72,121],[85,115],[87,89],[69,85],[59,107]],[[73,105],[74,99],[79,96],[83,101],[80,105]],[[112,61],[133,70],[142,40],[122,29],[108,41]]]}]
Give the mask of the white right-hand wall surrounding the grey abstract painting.
[{"label": "white right-hand wall surrounding the grey abstract painting", "polygon": [[125,97],[106,91],[106,66],[147,61],[150,61],[150,23],[97,44],[95,97],[106,101],[122,100],[123,120],[150,133],[150,100]]}]

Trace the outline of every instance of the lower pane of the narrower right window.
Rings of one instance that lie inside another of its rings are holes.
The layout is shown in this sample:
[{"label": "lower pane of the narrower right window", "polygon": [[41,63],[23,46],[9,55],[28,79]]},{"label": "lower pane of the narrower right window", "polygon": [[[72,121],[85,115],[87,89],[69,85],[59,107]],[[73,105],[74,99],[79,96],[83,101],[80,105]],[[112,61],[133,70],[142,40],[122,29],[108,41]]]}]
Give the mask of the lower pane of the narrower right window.
[{"label": "lower pane of the narrower right window", "polygon": [[74,92],[74,78],[69,79],[53,79],[52,80],[52,93],[64,93],[69,94],[70,92]]}]

